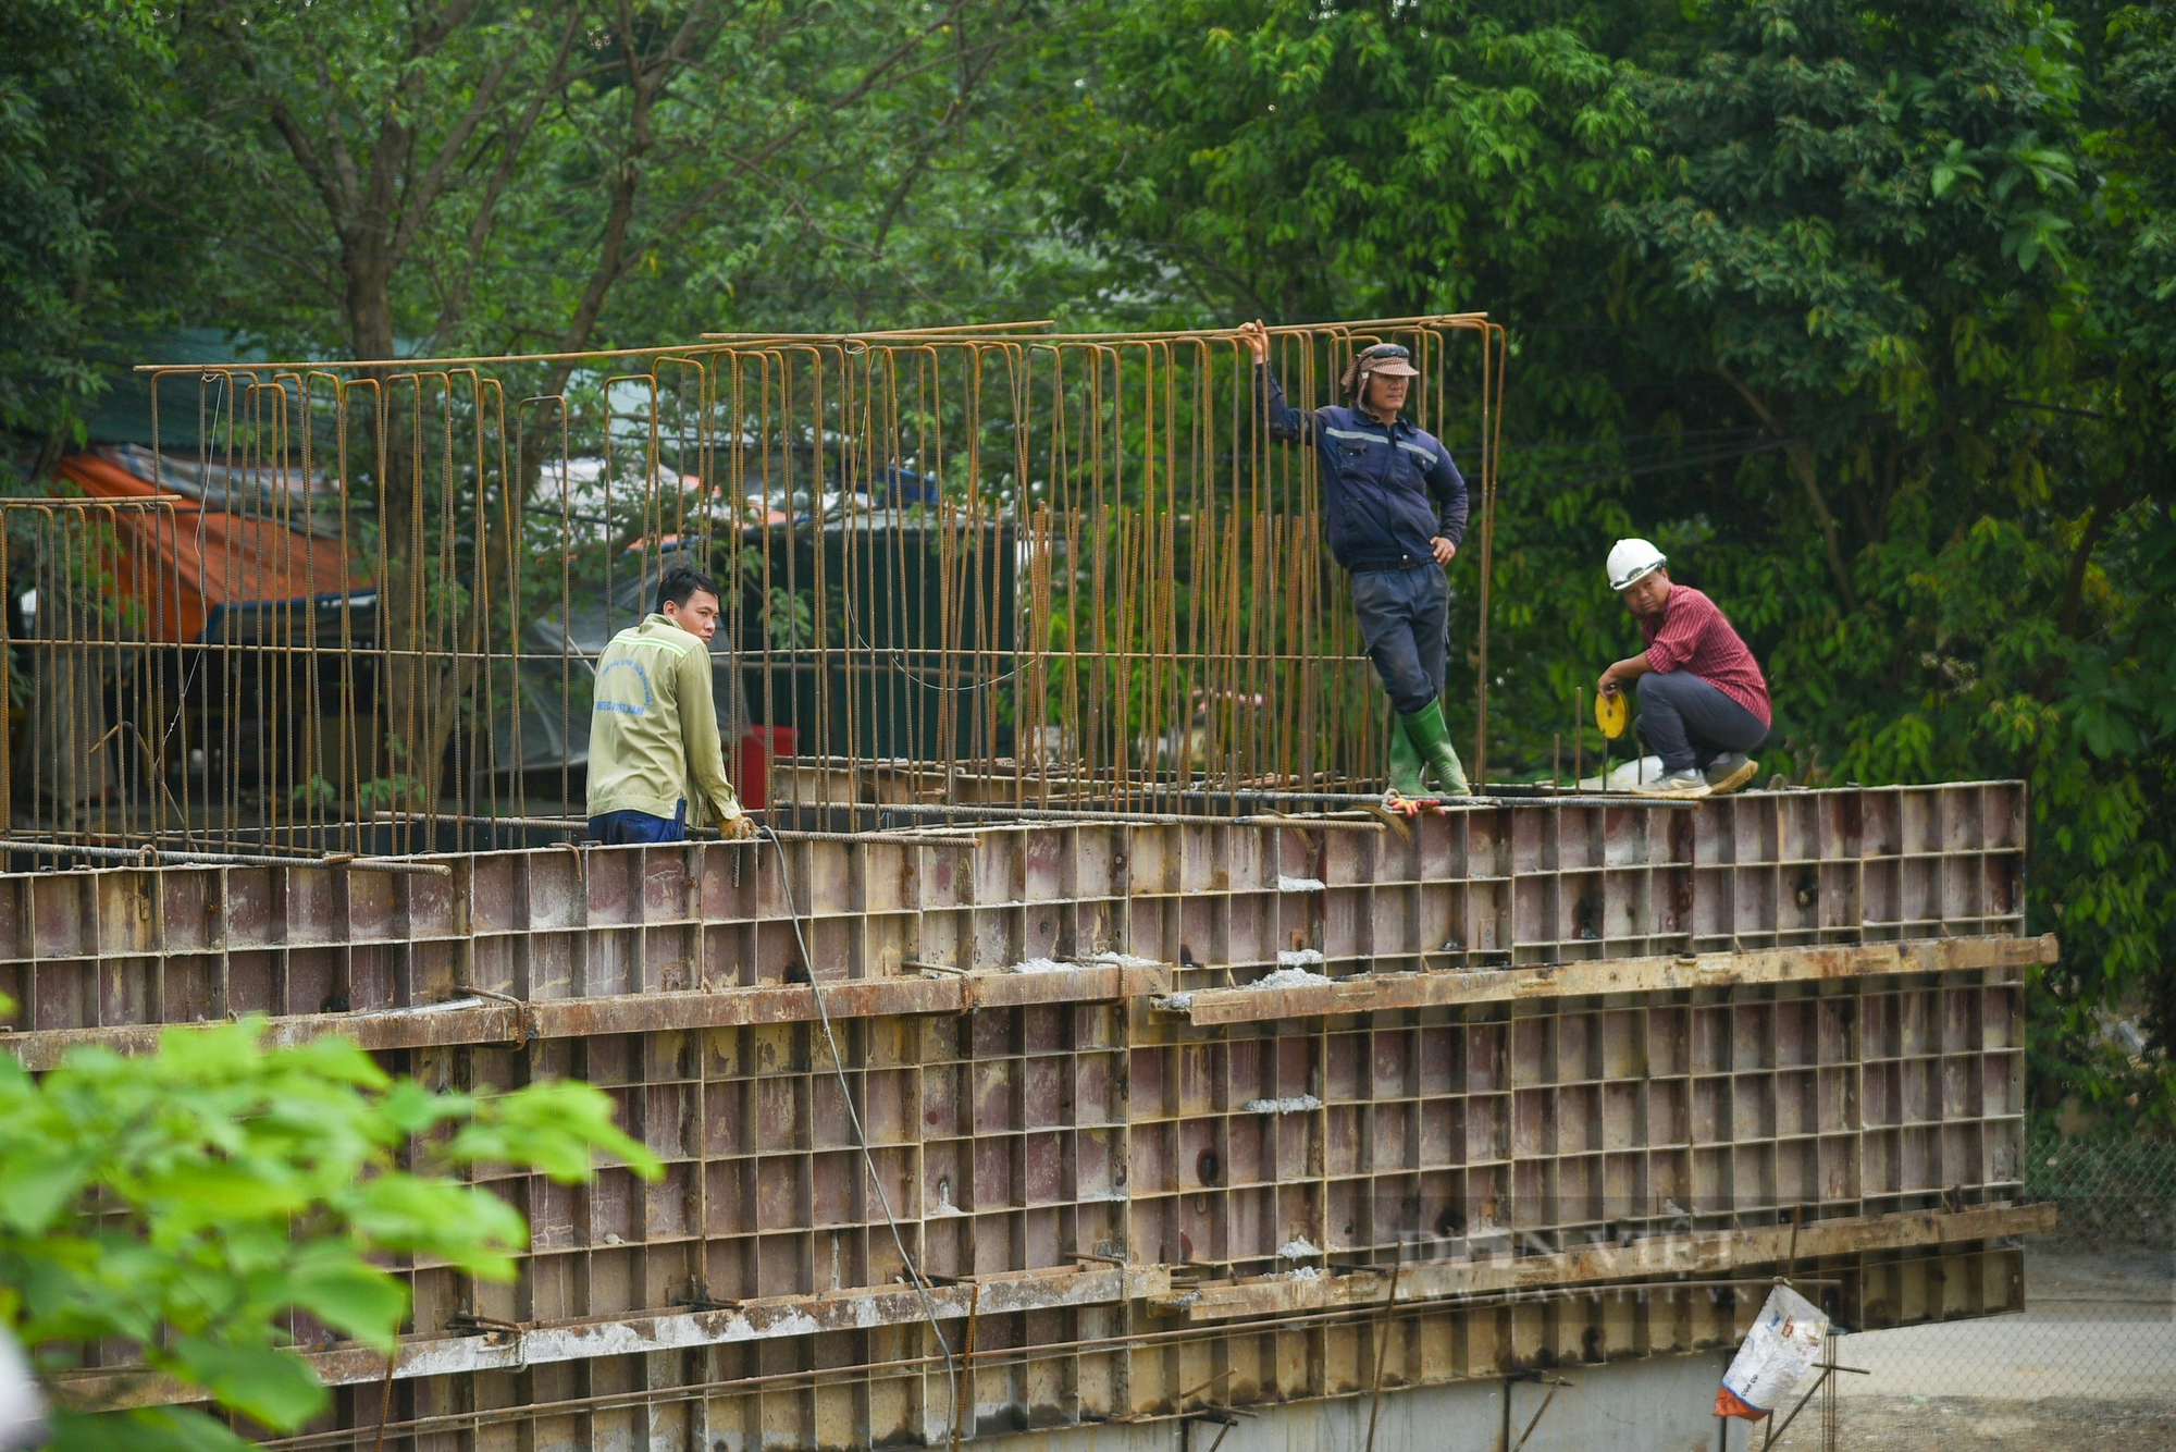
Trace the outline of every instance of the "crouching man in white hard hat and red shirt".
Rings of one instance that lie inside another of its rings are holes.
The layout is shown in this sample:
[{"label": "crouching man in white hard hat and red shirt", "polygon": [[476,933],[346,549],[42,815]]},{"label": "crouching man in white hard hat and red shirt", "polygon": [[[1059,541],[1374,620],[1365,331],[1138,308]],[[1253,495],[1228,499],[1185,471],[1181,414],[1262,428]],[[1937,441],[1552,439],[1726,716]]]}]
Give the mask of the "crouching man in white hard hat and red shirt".
[{"label": "crouching man in white hard hat and red shirt", "polygon": [[1610,546],[1610,590],[1639,620],[1647,649],[1602,673],[1595,690],[1615,697],[1639,681],[1639,734],[1662,758],[1649,797],[1734,792],[1760,762],[1745,755],[1767,740],[1773,712],[1760,662],[1723,612],[1699,590],[1673,586],[1669,562],[1647,540]]}]

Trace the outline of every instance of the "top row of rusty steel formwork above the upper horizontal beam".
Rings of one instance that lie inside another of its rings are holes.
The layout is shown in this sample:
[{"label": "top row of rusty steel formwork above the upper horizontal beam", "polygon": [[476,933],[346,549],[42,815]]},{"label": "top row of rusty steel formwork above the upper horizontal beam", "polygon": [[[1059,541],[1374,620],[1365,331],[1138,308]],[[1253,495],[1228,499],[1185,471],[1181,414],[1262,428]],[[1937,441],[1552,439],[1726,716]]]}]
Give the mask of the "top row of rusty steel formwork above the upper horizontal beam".
[{"label": "top row of rusty steel formwork above the upper horizontal beam", "polygon": [[[1584,799],[1582,799],[1584,801]],[[322,866],[0,875],[0,993],[33,1032],[368,1014],[1058,962],[1175,986],[2015,936],[2024,788],[1514,799],[1397,832],[1031,825]],[[801,914],[801,938],[788,903]],[[807,945],[803,953],[803,940]],[[809,962],[805,962],[805,958]],[[927,967],[925,967],[927,964]]]}]

